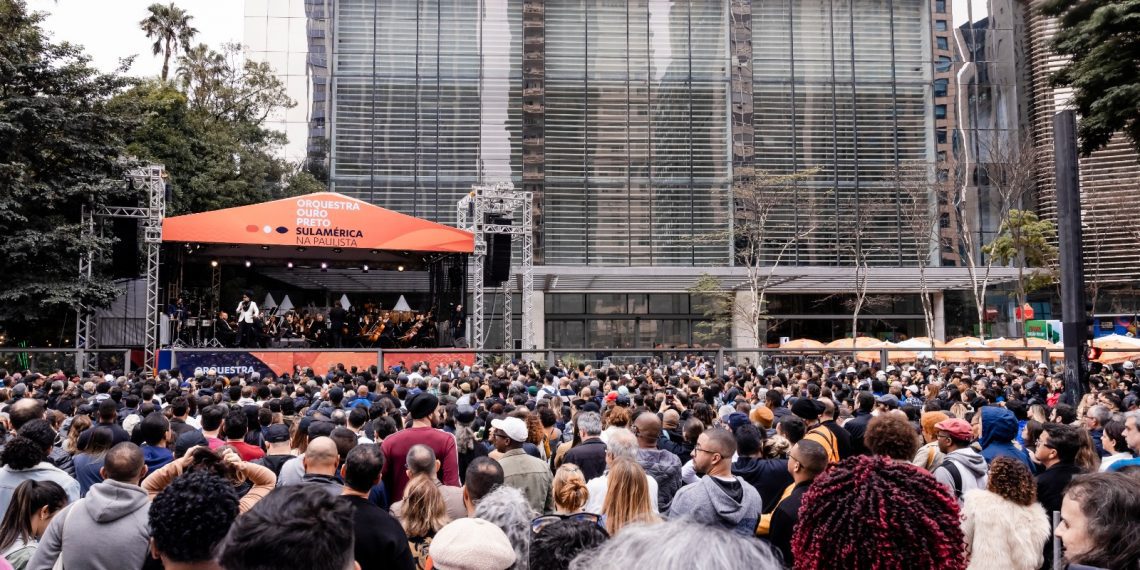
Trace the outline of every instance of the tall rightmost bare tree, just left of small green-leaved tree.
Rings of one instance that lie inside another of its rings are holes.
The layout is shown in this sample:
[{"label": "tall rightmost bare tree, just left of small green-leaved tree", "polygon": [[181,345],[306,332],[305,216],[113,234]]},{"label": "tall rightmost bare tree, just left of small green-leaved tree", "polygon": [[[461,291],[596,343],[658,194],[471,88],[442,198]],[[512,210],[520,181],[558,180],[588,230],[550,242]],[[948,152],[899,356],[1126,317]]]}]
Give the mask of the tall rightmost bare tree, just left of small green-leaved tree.
[{"label": "tall rightmost bare tree, just left of small green-leaved tree", "polygon": [[[1011,138],[1012,137],[1012,138]],[[988,239],[982,228],[974,228],[971,222],[980,220],[979,210],[986,207],[995,226],[1001,227],[1009,220],[1009,212],[1021,206],[1021,201],[1036,184],[1036,157],[1033,139],[1026,132],[999,132],[977,145],[978,156],[966,156],[959,163],[959,172],[954,179],[954,207],[960,220],[959,230],[966,267],[970,276],[970,292],[978,317],[978,336],[985,337],[986,290],[990,287],[993,255],[982,258],[982,250],[996,237]],[[972,182],[975,176],[970,169],[976,169],[977,186]],[[948,178],[948,173],[939,172],[939,179]],[[988,192],[979,198],[979,189]]]}]

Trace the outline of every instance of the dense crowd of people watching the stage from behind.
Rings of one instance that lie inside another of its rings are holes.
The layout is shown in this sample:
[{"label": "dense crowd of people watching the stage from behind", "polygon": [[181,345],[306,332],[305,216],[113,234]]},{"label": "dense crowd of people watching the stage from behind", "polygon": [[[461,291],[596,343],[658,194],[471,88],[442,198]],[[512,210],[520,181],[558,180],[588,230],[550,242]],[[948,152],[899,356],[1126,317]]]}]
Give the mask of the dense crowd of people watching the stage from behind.
[{"label": "dense crowd of people watching the stage from behind", "polygon": [[917,364],[0,370],[0,569],[1140,568],[1132,366]]}]

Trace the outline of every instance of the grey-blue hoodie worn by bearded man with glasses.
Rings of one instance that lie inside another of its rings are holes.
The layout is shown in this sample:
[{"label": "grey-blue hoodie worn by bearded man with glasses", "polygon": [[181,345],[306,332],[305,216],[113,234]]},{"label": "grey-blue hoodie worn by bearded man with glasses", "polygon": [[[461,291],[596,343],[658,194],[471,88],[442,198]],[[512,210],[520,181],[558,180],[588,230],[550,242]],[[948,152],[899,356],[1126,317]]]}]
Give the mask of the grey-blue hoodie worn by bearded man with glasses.
[{"label": "grey-blue hoodie worn by bearded man with glasses", "polygon": [[760,519],[760,495],[748,481],[739,477],[732,479],[740,486],[736,489],[740,498],[730,495],[725,484],[715,477],[705,475],[697,483],[677,491],[669,508],[669,518],[690,519],[752,536]]}]

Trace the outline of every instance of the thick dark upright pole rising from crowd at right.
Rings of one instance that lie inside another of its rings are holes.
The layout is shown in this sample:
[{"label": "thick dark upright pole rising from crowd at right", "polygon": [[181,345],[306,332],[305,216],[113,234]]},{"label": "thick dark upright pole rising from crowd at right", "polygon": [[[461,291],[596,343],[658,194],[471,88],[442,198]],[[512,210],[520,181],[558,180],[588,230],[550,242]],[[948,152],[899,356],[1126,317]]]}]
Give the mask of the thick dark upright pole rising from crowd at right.
[{"label": "thick dark upright pole rising from crowd at right", "polygon": [[1061,331],[1065,343],[1065,394],[1081,401],[1089,376],[1089,328],[1084,306],[1081,247],[1081,186],[1076,155],[1076,116],[1053,115],[1053,165],[1057,172],[1057,237],[1060,246]]}]

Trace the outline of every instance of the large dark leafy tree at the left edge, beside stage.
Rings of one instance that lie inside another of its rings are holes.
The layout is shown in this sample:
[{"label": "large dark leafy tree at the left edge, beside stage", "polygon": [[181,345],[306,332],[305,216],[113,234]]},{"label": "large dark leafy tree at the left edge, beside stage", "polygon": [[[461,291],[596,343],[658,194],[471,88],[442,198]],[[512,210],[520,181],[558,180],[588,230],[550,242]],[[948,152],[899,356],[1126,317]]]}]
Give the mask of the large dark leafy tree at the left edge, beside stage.
[{"label": "large dark leafy tree at the left edge, beside stage", "polygon": [[111,247],[83,238],[80,211],[136,198],[121,160],[130,115],[108,105],[130,80],[99,73],[78,46],[52,43],[41,21],[23,1],[0,0],[0,321],[28,333],[115,296],[103,277],[76,279],[81,252]]}]

